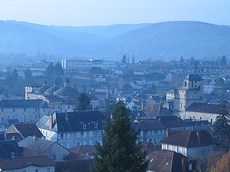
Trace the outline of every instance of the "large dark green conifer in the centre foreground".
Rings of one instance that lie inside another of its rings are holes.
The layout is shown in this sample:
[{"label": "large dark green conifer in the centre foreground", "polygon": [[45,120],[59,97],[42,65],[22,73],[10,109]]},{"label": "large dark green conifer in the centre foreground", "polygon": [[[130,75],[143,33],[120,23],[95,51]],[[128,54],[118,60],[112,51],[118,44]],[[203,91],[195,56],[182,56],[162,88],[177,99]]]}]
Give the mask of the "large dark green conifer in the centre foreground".
[{"label": "large dark green conifer in the centre foreground", "polygon": [[93,172],[145,172],[148,161],[138,133],[131,128],[129,111],[122,102],[115,105],[112,119],[105,124],[102,145],[96,144]]}]

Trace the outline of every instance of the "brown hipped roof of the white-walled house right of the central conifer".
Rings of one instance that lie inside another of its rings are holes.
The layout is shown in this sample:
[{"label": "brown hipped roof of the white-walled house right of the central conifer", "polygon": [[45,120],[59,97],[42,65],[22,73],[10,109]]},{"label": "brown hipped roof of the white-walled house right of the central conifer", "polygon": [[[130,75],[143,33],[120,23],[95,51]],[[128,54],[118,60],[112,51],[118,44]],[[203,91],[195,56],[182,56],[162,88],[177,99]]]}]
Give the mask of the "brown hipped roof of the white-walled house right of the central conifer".
[{"label": "brown hipped roof of the white-walled house right of the central conifer", "polygon": [[205,130],[175,131],[162,139],[162,143],[187,148],[213,145],[212,136]]}]

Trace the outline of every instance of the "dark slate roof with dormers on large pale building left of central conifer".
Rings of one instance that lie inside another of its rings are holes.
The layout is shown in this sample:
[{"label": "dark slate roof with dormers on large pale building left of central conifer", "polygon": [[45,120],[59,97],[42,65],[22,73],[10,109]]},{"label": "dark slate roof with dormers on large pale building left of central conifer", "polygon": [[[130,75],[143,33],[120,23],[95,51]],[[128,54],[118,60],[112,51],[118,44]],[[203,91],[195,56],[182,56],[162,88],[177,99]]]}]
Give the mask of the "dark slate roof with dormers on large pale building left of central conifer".
[{"label": "dark slate roof with dormers on large pale building left of central conifer", "polygon": [[[104,115],[99,111],[55,112],[52,115],[53,131],[76,132],[103,130]],[[50,129],[50,117],[44,116],[37,123],[38,128]],[[84,128],[85,126],[85,128]]]}]

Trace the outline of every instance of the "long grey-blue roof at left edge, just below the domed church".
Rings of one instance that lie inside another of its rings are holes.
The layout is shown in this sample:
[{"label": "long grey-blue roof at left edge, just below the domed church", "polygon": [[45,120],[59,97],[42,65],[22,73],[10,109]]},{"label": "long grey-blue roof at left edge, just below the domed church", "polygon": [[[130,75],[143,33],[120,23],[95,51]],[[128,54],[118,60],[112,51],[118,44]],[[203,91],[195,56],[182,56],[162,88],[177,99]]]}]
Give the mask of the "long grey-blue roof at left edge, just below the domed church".
[{"label": "long grey-blue roof at left edge, just below the domed church", "polygon": [[46,102],[36,100],[1,100],[0,108],[47,108]]}]

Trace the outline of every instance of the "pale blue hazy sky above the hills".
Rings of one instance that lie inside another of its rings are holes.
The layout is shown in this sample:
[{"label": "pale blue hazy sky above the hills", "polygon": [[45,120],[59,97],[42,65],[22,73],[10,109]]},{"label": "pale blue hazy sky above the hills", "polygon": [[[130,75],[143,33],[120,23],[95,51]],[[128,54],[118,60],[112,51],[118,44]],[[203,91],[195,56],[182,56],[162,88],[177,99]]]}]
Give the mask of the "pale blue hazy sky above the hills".
[{"label": "pale blue hazy sky above the hills", "polygon": [[0,20],[72,26],[173,20],[230,25],[230,0],[0,0]]}]

